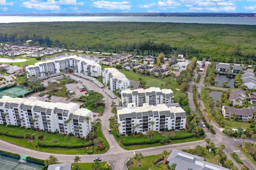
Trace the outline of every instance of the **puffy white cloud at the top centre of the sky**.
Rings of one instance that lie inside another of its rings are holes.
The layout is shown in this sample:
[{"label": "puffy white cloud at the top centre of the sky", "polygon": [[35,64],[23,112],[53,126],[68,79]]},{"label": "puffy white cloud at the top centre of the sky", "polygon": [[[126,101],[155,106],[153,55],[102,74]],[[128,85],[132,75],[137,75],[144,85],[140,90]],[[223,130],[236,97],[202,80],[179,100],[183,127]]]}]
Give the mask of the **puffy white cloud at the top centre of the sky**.
[{"label": "puffy white cloud at the top centre of the sky", "polygon": [[93,2],[93,6],[99,9],[106,10],[122,10],[122,11],[130,11],[131,5],[130,2],[109,2],[109,1],[97,1]]}]

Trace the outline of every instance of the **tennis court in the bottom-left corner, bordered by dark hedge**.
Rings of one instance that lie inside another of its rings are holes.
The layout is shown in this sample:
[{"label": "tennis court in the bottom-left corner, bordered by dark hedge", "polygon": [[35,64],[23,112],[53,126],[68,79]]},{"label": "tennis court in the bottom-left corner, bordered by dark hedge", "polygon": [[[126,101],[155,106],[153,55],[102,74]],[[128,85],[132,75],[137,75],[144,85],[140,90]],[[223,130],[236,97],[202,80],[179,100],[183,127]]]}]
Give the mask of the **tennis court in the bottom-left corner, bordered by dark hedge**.
[{"label": "tennis court in the bottom-left corner, bordered by dark hedge", "polygon": [[41,170],[42,168],[42,166],[0,156],[0,170]]}]

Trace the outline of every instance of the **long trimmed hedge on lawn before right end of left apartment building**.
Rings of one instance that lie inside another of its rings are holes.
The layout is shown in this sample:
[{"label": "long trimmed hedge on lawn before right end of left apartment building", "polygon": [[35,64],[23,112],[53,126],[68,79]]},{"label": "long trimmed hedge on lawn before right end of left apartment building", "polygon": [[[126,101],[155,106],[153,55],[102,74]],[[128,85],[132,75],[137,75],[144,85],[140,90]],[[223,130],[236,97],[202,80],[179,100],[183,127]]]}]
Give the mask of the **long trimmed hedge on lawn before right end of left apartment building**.
[{"label": "long trimmed hedge on lawn before right end of left apartment building", "polygon": [[53,143],[53,142],[38,141],[39,147],[46,147],[46,148],[84,148],[84,147],[89,147],[92,145],[93,145],[93,142],[66,144],[66,143]]}]

